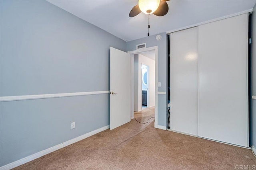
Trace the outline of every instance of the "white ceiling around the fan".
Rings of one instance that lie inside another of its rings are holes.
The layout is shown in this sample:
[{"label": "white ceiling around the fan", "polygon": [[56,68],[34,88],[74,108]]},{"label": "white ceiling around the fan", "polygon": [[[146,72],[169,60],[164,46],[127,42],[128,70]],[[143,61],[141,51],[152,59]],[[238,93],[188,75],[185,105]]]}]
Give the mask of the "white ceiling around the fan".
[{"label": "white ceiling around the fan", "polygon": [[[148,16],[129,17],[138,0],[47,0],[48,2],[123,39],[146,37]],[[170,0],[169,12],[150,15],[150,35],[252,9],[256,0]]]}]

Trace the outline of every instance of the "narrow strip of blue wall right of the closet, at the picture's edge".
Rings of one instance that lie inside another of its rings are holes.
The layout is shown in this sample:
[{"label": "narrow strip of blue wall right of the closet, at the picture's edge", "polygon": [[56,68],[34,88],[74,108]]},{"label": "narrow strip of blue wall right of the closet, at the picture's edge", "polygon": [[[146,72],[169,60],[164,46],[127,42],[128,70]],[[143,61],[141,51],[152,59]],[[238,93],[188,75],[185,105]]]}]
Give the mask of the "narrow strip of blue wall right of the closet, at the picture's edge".
[{"label": "narrow strip of blue wall right of the closet, at the picture's edge", "polygon": [[256,148],[256,100],[252,100],[252,95],[256,96],[256,4],[252,12],[252,58],[250,72],[250,145],[253,145]]}]

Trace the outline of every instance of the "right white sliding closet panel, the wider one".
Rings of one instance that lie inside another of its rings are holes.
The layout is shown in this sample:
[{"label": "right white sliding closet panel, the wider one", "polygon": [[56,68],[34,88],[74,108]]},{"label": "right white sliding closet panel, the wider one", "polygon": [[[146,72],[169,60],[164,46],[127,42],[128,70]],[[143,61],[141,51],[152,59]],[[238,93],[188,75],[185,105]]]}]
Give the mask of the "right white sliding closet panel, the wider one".
[{"label": "right white sliding closet panel, the wider one", "polygon": [[248,147],[247,17],[198,27],[199,136],[244,147]]}]

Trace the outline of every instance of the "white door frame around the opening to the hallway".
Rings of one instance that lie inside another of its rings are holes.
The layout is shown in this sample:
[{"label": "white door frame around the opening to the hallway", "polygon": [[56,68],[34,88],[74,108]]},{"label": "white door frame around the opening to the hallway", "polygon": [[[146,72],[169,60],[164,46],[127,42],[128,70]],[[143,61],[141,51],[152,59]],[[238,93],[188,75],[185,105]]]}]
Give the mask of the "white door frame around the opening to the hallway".
[{"label": "white door frame around the opening to the hallway", "polygon": [[[153,46],[153,47],[148,47],[148,48],[143,48],[143,49],[137,49],[134,51],[127,51],[131,55],[131,63],[134,62],[133,55],[139,54],[142,52],[146,51],[154,51],[155,52],[155,128],[158,128],[158,46]],[[132,69],[131,69],[131,88],[132,88],[132,98],[131,98],[131,119],[134,118],[134,85],[133,85],[133,80],[134,80],[134,64],[132,64]]]}]

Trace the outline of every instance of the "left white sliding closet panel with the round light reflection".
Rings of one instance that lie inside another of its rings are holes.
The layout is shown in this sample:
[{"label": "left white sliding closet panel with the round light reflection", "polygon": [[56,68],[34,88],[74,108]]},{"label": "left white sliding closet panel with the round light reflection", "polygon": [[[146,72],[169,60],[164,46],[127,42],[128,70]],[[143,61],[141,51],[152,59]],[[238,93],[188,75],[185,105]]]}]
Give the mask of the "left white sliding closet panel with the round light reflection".
[{"label": "left white sliding closet panel with the round light reflection", "polygon": [[170,129],[198,135],[197,27],[170,34]]}]

